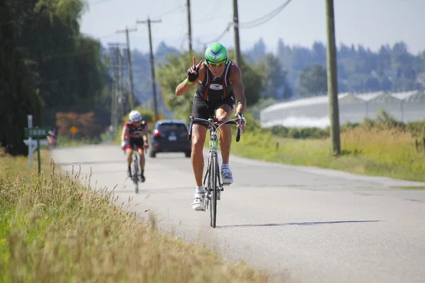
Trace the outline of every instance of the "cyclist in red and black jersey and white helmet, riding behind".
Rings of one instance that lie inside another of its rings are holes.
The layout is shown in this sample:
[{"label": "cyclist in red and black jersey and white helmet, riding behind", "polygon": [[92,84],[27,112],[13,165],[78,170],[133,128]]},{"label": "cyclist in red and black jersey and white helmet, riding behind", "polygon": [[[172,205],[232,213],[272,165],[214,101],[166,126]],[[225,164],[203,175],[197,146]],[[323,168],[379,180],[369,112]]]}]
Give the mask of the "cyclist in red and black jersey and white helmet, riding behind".
[{"label": "cyclist in red and black jersey and white helmet, riding behind", "polygon": [[125,150],[128,163],[128,176],[131,178],[132,151],[136,147],[140,161],[140,180],[145,182],[145,150],[149,147],[147,141],[147,123],[137,110],[132,110],[128,115],[129,121],[125,123],[121,134],[121,149]]}]

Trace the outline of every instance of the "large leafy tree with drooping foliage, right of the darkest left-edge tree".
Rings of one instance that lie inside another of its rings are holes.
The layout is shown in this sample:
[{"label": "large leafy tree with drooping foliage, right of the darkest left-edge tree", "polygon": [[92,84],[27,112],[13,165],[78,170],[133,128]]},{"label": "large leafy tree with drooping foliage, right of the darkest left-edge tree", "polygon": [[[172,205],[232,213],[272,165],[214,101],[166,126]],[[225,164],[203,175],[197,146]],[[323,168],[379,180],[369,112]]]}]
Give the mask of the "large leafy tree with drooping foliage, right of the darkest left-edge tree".
[{"label": "large leafy tree with drooping foliage, right of the darkest left-edge tree", "polygon": [[101,45],[81,35],[82,0],[16,0],[18,46],[40,89],[44,121],[55,112],[94,107],[106,79]]}]

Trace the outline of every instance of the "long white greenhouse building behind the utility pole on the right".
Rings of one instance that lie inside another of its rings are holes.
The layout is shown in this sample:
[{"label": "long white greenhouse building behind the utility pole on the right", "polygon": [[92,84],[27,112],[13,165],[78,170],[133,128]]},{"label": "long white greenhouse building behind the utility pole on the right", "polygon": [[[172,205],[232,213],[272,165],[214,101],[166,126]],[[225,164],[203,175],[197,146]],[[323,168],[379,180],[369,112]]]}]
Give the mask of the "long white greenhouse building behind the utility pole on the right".
[{"label": "long white greenhouse building behind the utility pole on the right", "polygon": [[[339,123],[363,122],[367,117],[375,119],[380,110],[402,122],[425,120],[425,92],[400,93],[341,93],[339,98]],[[261,110],[262,127],[329,126],[329,101],[327,96],[316,96],[276,103]]]}]

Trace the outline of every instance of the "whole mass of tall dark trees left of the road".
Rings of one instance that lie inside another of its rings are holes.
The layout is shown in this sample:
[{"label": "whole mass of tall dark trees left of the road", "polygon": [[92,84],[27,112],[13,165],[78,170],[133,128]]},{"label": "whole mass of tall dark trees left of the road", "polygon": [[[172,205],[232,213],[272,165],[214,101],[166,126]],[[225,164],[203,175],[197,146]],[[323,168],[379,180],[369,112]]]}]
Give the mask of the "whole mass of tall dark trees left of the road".
[{"label": "whole mass of tall dark trees left of the road", "polygon": [[82,0],[0,1],[0,141],[26,154],[23,128],[54,126],[57,112],[108,115],[108,62],[80,33]]}]

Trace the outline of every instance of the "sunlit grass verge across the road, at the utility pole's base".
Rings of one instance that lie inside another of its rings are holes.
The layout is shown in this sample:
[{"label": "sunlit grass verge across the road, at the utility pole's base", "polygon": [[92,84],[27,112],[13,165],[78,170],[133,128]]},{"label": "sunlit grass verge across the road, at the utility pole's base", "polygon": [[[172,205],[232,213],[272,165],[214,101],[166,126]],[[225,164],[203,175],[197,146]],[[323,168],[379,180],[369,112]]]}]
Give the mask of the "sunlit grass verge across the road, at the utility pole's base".
[{"label": "sunlit grass verge across the road, at the utility pole's base", "polygon": [[416,151],[414,137],[397,129],[348,129],[341,133],[341,156],[330,153],[327,139],[287,139],[255,130],[245,131],[232,154],[297,166],[318,166],[362,175],[425,181],[425,153]]}]

